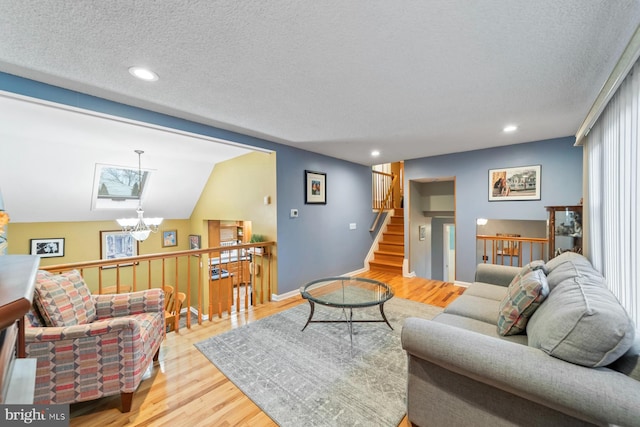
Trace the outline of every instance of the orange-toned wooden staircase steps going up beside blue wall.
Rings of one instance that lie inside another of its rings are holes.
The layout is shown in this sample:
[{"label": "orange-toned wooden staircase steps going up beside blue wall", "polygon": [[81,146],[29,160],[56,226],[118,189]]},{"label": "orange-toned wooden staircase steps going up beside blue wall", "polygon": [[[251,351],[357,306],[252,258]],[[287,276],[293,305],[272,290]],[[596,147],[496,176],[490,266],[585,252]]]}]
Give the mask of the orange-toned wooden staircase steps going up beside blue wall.
[{"label": "orange-toned wooden staircase steps going up beside blue wall", "polygon": [[404,210],[395,209],[394,214],[382,233],[378,250],[374,251],[369,268],[373,271],[385,271],[402,274],[404,260]]}]

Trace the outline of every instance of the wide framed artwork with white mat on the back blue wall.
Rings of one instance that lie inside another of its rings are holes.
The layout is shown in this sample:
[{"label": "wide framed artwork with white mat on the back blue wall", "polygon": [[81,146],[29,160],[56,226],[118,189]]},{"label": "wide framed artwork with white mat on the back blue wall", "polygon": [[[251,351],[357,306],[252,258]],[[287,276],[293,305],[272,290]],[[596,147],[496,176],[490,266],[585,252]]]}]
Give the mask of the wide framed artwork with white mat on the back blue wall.
[{"label": "wide framed artwork with white mat on the back blue wall", "polygon": [[540,200],[540,165],[489,170],[489,201]]}]

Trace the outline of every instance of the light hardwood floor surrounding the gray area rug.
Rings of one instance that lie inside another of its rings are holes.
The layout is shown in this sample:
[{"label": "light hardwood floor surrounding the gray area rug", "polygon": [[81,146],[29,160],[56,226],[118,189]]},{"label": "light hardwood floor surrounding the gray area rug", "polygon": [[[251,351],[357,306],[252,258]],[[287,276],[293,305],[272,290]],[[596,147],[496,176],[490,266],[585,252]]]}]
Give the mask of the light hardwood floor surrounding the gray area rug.
[{"label": "light hardwood floor surrounding the gray area rug", "polygon": [[[395,296],[445,307],[465,288],[451,283],[367,272],[363,277],[388,283]],[[133,396],[131,412],[120,412],[120,396],[71,405],[71,426],[275,426],[276,424],[220,373],[194,343],[295,305],[301,297],[269,302],[239,314],[192,324],[168,333],[159,362],[145,374]],[[400,426],[409,426],[406,417]]]}]

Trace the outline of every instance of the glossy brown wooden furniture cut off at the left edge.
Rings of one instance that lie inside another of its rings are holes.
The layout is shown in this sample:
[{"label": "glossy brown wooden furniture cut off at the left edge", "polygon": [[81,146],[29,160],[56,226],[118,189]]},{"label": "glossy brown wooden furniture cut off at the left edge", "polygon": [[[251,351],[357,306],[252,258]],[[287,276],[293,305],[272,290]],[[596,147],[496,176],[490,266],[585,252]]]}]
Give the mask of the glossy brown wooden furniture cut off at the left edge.
[{"label": "glossy brown wooden furniture cut off at the left edge", "polygon": [[24,316],[31,308],[40,260],[0,256],[0,403],[32,403],[35,359],[25,357]]}]

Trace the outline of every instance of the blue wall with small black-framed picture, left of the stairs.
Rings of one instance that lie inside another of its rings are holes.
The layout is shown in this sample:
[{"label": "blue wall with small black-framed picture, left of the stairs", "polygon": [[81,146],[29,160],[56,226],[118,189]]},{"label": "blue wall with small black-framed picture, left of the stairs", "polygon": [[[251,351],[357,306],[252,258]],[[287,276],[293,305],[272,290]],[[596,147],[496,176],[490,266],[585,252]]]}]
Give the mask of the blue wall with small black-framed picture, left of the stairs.
[{"label": "blue wall with small black-framed picture, left of the stairs", "polygon": [[[279,293],[363,268],[375,237],[371,168],[290,147],[277,151]],[[304,204],[305,169],[327,174],[326,205]],[[291,209],[298,218],[290,218]]]}]

